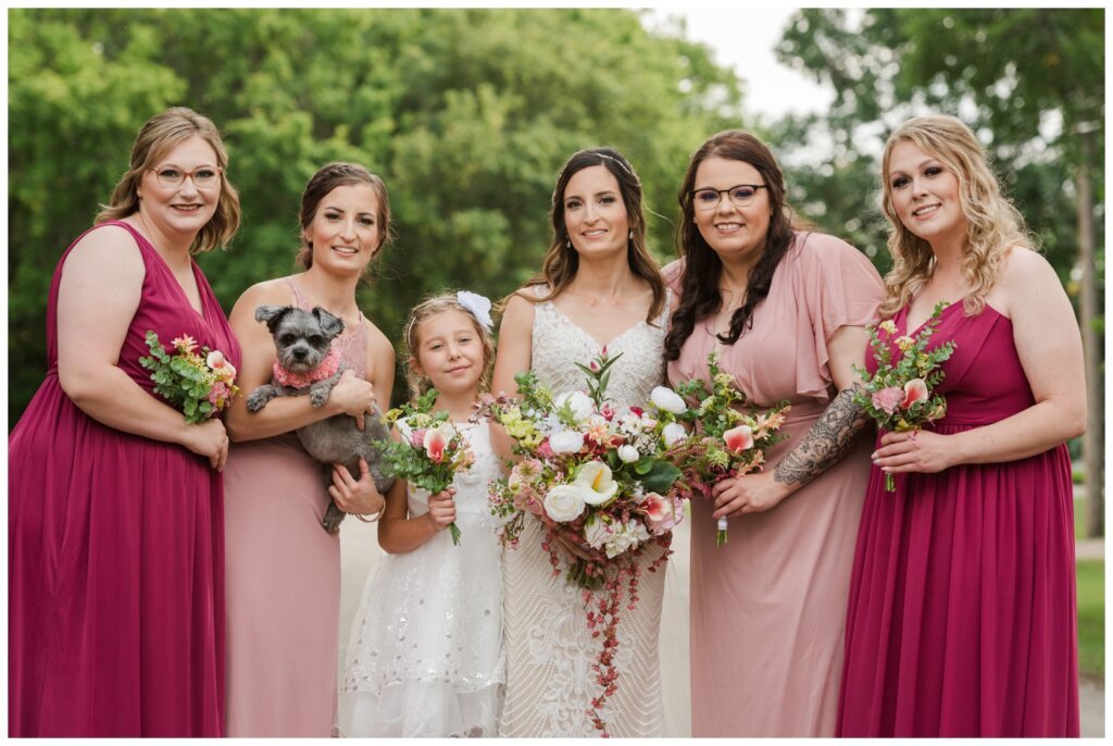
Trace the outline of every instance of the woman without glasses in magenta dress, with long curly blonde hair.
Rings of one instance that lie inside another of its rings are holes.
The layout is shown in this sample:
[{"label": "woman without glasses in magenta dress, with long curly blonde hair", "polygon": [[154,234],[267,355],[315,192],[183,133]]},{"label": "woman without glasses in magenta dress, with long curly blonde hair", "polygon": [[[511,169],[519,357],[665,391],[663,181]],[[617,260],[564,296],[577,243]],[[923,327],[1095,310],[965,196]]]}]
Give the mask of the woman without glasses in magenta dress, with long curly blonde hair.
[{"label": "woman without glasses in magenta dress, with long curly blonde hair", "polygon": [[957,119],[902,125],[883,181],[883,313],[915,334],[948,301],[933,340],[956,347],[938,387],[946,416],[883,435],[874,453],[838,734],[1077,736],[1064,442],[1085,430],[1086,406],[1071,304]]}]

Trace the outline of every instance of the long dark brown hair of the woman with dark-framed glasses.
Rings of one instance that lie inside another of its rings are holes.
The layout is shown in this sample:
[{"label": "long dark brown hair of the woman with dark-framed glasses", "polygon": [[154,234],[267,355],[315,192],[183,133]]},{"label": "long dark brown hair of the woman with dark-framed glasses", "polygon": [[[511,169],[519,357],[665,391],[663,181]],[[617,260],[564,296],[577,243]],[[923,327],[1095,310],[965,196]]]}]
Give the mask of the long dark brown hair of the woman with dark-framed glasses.
[{"label": "long dark brown hair of the woman with dark-framed glasses", "polygon": [[691,336],[696,322],[722,307],[719,278],[722,261],[705,241],[696,225],[692,190],[696,171],[708,158],[727,158],[747,163],[761,175],[769,199],[769,229],[761,256],[750,271],[746,284],[746,301],[730,317],[730,331],[718,335],[723,344],[733,344],[752,325],[754,310],[769,295],[772,275],[792,243],[792,210],[785,196],[785,175],[766,145],[749,132],[730,129],[715,135],[692,155],[680,186],[680,225],[677,226],[677,248],[684,259],[680,304],[672,314],[672,324],[664,337],[664,359],[677,360],[680,347]]}]

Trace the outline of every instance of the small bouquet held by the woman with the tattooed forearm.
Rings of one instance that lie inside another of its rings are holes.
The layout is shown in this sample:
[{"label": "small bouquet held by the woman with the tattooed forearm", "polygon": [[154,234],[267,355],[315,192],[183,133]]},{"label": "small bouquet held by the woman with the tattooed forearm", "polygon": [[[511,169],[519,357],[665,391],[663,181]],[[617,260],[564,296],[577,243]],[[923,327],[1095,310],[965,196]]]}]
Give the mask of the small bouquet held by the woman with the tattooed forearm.
[{"label": "small bouquet held by the woman with the tattooed forearm", "polygon": [[[699,402],[679,415],[692,425],[692,436],[670,451],[683,479],[679,484],[682,498],[696,495],[710,499],[716,482],[728,477],[741,477],[761,469],[765,452],[787,435],[777,431],[785,424],[791,406],[780,402],[765,412],[750,412],[741,408],[746,395],[735,385],[735,376],[719,370],[719,356],[707,359],[711,390],[700,379],[686,381],[676,387],[680,396]],[[727,519],[720,518],[715,543],[727,543]]]}]

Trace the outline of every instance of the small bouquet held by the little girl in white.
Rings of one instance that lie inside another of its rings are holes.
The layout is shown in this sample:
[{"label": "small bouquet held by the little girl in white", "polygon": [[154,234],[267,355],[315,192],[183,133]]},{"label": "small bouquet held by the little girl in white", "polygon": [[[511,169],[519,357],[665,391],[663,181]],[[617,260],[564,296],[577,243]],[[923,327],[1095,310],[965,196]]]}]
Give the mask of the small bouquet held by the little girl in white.
[{"label": "small bouquet held by the little girl in white", "polygon": [[[443,492],[452,484],[456,472],[474,462],[463,433],[449,420],[445,411],[432,412],[436,389],[430,389],[414,400],[386,413],[386,421],[396,424],[400,440],[375,443],[383,454],[383,471],[401,477],[431,494]],[[460,546],[460,528],[449,524],[452,543]]]}]

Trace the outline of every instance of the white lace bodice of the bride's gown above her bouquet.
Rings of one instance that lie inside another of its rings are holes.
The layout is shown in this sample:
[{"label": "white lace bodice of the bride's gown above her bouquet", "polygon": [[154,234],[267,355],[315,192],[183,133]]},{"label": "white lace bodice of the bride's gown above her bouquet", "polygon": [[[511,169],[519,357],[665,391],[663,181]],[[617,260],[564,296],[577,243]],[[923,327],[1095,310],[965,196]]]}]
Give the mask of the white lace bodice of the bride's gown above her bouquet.
[{"label": "white lace bodice of the bride's gown above her bouquet", "polygon": [[[622,353],[607,384],[607,395],[619,409],[639,406],[649,401],[653,386],[664,381],[664,333],[668,328],[672,296],[666,296],[664,310],[650,325],[640,321],[607,344],[611,357]],[[533,310],[531,370],[553,393],[584,387],[583,371],[603,345],[572,323],[553,305],[539,303]]]}]

